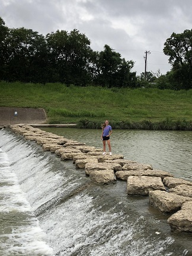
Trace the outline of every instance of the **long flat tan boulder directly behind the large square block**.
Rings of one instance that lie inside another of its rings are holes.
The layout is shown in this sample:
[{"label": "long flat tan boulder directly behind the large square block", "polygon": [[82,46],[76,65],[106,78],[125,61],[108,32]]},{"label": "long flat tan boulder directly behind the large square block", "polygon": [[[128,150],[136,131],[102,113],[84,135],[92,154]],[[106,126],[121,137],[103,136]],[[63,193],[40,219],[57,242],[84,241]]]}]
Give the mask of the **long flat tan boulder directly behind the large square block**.
[{"label": "long flat tan boulder directly behind the large square block", "polygon": [[146,169],[146,170],[135,170],[135,171],[117,171],[116,177],[121,180],[127,180],[129,176],[149,176],[149,177],[160,177],[163,180],[165,177],[172,177],[172,174],[166,171],[157,169]]}]

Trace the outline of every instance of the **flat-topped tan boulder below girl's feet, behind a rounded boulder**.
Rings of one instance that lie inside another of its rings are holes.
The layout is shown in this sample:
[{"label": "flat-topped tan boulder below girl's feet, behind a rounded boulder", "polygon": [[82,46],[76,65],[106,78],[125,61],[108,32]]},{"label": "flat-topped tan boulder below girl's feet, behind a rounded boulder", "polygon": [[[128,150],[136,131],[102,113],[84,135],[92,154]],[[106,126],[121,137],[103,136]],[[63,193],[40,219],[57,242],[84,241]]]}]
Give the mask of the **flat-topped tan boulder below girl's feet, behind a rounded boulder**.
[{"label": "flat-topped tan boulder below girl's feet, behind a rounded boulder", "polygon": [[92,171],[99,171],[104,169],[113,169],[113,171],[119,171],[121,169],[120,164],[110,164],[110,163],[98,163],[98,164],[85,164],[85,173],[90,175]]}]

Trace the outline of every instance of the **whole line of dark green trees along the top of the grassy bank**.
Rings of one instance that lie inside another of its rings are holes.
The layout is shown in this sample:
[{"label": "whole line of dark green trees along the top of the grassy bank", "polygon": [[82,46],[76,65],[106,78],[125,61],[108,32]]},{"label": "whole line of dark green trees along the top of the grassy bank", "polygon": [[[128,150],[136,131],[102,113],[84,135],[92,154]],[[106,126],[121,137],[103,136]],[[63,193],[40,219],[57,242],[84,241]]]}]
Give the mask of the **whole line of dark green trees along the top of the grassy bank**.
[{"label": "whole line of dark green trees along the top of the grassy bank", "polygon": [[[0,17],[0,80],[102,87],[192,88],[192,30],[173,33],[164,44],[171,71],[136,76],[133,60],[125,60],[105,44],[96,52],[91,41],[74,29],[43,36],[37,31],[8,28]],[[153,83],[151,83],[153,82]]]}]

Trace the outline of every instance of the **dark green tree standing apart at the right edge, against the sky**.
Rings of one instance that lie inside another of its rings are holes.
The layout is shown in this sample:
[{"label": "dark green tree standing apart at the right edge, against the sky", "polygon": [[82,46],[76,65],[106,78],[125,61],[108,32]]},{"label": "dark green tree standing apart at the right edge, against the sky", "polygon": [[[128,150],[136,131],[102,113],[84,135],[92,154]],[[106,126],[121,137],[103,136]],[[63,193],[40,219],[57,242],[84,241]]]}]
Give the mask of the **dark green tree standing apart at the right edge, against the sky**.
[{"label": "dark green tree standing apart at the right edge, against the sky", "polygon": [[171,82],[177,89],[192,88],[192,30],[172,33],[165,41],[164,53],[172,65]]}]

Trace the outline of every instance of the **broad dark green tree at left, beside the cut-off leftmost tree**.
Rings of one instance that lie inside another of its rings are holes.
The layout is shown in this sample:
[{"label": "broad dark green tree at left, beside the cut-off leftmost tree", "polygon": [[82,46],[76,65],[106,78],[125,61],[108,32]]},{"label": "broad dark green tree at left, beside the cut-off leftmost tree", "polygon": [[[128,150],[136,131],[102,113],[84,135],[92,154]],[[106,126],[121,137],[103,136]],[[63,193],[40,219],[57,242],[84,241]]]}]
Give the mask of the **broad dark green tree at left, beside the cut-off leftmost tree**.
[{"label": "broad dark green tree at left, beside the cut-off leftmost tree", "polygon": [[12,28],[5,43],[7,80],[45,82],[47,50],[42,35],[31,29]]}]

